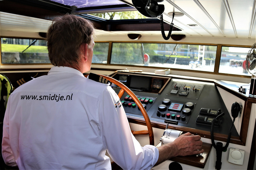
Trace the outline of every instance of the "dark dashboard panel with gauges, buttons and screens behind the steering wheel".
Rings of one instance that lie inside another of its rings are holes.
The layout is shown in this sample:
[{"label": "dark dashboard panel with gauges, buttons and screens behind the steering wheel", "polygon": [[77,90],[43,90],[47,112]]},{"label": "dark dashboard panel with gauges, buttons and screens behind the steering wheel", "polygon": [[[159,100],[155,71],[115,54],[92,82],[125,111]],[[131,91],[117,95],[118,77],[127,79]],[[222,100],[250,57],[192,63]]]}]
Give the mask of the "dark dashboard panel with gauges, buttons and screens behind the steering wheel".
[{"label": "dark dashboard panel with gauges, buttons and screens behind the steering wheel", "polygon": [[[225,114],[215,124],[214,132],[227,135],[233,123],[214,82],[136,73],[117,73],[113,78],[121,80],[134,92],[151,121],[164,123],[165,119],[170,119],[177,121],[178,126],[209,132],[214,114],[207,116],[199,113],[201,109],[211,109],[216,114]],[[116,93],[120,91],[115,85],[113,89]],[[143,118],[128,94],[121,97],[121,102],[127,115]],[[231,132],[232,136],[239,137],[234,126]]]}]

